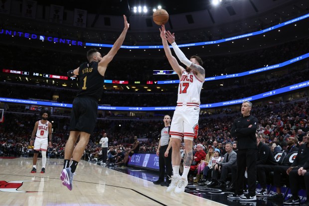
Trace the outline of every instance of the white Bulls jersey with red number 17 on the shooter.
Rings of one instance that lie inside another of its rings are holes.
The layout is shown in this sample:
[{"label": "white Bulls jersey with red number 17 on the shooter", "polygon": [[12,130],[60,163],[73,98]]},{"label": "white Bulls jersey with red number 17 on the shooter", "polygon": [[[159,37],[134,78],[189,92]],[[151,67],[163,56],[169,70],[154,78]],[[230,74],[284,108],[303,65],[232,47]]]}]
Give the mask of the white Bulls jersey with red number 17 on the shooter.
[{"label": "white Bulls jersey with red number 17 on the shooter", "polygon": [[196,103],[200,104],[200,94],[204,83],[204,79],[200,80],[193,71],[188,73],[183,71],[178,86],[177,103]]}]

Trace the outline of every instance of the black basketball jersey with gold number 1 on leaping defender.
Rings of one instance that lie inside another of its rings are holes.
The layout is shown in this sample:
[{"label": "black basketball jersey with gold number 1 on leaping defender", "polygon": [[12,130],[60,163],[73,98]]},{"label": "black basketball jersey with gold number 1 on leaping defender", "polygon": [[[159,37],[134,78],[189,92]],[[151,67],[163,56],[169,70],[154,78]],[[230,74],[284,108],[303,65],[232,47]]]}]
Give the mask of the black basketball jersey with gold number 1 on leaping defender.
[{"label": "black basketball jersey with gold number 1 on leaping defender", "polygon": [[104,76],[98,71],[99,62],[85,62],[79,66],[79,91],[77,96],[87,96],[99,100],[103,93]]}]

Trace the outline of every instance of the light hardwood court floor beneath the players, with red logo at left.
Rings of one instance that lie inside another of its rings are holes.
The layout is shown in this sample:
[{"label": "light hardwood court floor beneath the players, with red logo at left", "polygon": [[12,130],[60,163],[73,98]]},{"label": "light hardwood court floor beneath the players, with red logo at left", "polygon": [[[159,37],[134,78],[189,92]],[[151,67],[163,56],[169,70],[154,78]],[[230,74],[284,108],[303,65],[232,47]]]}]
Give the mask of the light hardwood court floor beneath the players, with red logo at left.
[{"label": "light hardwood court floor beneath the players, with red logo at left", "polygon": [[223,206],[188,193],[166,193],[143,180],[81,161],[73,190],[62,186],[62,159],[47,159],[46,173],[30,173],[32,158],[0,159],[0,206]]}]

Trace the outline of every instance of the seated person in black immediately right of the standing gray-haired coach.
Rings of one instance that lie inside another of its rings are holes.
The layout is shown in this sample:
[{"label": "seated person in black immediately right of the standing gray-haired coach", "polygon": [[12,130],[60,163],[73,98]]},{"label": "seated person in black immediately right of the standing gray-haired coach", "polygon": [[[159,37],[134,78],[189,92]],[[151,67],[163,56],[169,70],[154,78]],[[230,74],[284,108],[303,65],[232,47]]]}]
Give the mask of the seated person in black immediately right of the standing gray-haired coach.
[{"label": "seated person in black immediately right of the standing gray-haired coach", "polygon": [[278,163],[276,162],[274,155],[270,148],[260,142],[260,136],[256,134],[257,145],[258,145],[258,161],[257,161],[257,175],[259,178],[259,183],[262,187],[262,190],[258,192],[257,197],[267,197],[267,183],[266,175],[269,175],[270,172],[274,171],[274,168]]}]

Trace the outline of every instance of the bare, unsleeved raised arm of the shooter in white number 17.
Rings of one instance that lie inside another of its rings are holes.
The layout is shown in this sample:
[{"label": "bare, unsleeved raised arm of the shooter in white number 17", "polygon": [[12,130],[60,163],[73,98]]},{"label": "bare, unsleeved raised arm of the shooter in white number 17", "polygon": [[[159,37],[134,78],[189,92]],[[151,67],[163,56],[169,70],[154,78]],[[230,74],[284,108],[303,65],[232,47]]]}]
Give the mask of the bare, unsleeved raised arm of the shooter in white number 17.
[{"label": "bare, unsleeved raised arm of the shooter in white number 17", "polygon": [[167,43],[167,38],[165,36],[166,31],[165,31],[164,24],[161,25],[161,28],[159,28],[159,30],[160,30],[160,37],[162,38],[162,44],[163,44],[163,48],[164,48],[164,52],[167,57],[167,60],[169,64],[171,65],[171,67],[173,68],[173,70],[178,74],[180,78],[181,72],[184,70],[184,68],[178,64],[177,59],[173,57],[173,55],[171,54],[170,48]]}]

